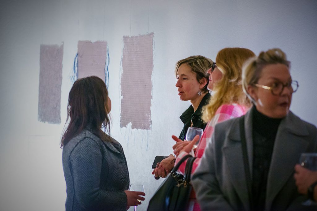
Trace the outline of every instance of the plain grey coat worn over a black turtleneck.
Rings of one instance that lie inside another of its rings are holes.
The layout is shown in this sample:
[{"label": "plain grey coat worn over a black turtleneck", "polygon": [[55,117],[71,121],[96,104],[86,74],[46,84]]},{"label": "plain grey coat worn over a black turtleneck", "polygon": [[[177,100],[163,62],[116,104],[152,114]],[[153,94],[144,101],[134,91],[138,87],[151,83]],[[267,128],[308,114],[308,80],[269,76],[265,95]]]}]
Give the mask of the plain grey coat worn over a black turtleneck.
[{"label": "plain grey coat worn over a black turtleneck", "polygon": [[[244,127],[249,163],[253,166],[252,109],[245,115]],[[301,153],[317,151],[316,134],[314,125],[292,112],[282,119],[268,172],[265,211],[317,210],[301,205],[307,198],[297,192],[294,181],[294,166]],[[253,169],[249,170],[252,176]],[[216,125],[191,182],[203,211],[250,210],[239,118]]]}]

